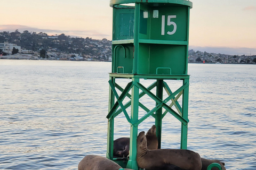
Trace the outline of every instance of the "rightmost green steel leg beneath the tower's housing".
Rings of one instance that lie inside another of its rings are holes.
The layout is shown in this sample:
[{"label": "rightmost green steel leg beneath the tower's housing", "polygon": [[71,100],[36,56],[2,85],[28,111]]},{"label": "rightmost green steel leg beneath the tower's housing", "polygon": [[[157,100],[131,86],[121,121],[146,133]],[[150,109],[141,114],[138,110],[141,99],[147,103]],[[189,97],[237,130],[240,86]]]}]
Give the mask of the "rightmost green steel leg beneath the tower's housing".
[{"label": "rightmost green steel leg beneath the tower's housing", "polygon": [[[189,83],[189,79],[183,80],[183,84]],[[182,97],[182,117],[188,120],[188,92],[189,89],[186,87],[183,90]],[[181,123],[181,142],[180,148],[187,149],[187,137],[188,137],[188,124]]]}]

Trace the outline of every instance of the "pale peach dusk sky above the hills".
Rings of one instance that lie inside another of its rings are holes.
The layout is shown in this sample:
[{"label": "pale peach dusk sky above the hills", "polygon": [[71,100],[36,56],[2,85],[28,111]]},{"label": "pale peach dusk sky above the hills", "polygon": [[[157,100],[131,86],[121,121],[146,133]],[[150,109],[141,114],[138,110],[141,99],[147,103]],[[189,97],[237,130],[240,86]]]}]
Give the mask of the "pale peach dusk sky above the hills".
[{"label": "pale peach dusk sky above the hills", "polygon": [[[256,0],[193,0],[189,48],[231,55],[256,55]],[[108,0],[9,0],[1,7],[0,32],[111,40]]]}]

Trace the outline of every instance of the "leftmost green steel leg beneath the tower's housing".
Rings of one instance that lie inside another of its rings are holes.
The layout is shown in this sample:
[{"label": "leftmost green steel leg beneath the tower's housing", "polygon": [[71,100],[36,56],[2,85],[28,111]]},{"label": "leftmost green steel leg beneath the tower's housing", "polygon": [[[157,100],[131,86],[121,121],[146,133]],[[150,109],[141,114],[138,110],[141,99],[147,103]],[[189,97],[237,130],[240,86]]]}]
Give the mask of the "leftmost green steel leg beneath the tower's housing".
[{"label": "leftmost green steel leg beneath the tower's housing", "polygon": [[[115,84],[115,79],[110,78],[111,82]],[[109,87],[109,101],[108,101],[108,112],[114,106],[115,96],[111,88]],[[113,160],[113,145],[114,145],[114,117],[108,119],[108,137],[107,137],[107,154],[108,159]]]}]

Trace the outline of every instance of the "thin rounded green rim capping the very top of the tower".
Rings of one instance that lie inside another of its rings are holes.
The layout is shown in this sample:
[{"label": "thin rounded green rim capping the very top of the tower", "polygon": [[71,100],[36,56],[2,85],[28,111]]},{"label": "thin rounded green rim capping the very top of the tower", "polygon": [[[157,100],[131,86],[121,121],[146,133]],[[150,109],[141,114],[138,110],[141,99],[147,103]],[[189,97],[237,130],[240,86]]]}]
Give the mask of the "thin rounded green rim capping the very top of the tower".
[{"label": "thin rounded green rim capping the very top of the tower", "polygon": [[193,3],[186,0],[110,0],[110,6],[119,4],[131,4],[131,3],[154,3],[155,5],[160,3],[169,3],[169,4],[180,4],[187,5],[192,8]]}]

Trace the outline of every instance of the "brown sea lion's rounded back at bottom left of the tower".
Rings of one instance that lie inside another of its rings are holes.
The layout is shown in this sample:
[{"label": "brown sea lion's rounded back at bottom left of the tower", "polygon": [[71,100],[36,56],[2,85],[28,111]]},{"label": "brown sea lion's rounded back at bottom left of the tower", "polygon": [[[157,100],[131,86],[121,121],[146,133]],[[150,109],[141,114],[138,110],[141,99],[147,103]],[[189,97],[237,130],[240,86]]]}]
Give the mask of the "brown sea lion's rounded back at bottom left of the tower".
[{"label": "brown sea lion's rounded back at bottom left of the tower", "polygon": [[98,155],[86,155],[78,164],[78,170],[118,170],[119,168],[122,167],[113,160]]}]

